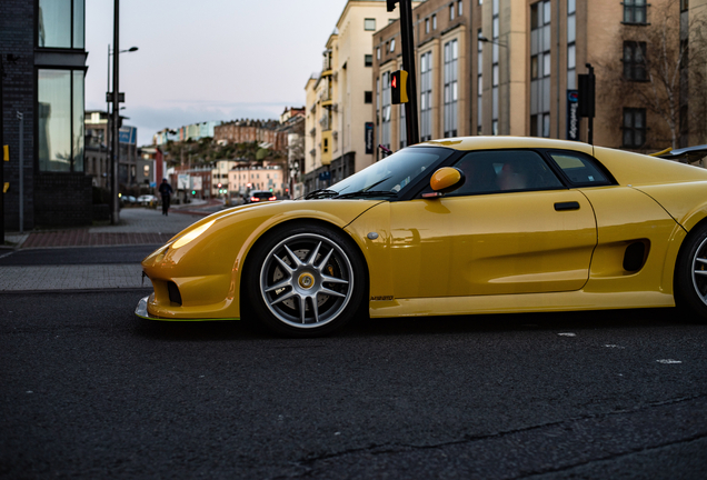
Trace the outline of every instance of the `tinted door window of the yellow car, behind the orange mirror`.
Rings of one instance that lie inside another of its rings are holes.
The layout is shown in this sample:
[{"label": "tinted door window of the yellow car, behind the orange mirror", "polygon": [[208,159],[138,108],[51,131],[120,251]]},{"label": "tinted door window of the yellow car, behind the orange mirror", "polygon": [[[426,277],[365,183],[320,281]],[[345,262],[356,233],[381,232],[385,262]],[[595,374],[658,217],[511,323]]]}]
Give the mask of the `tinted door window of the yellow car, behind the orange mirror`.
[{"label": "tinted door window of the yellow car, behind the orange mirror", "polygon": [[564,188],[542,157],[530,150],[470,152],[454,167],[466,181],[450,196]]}]

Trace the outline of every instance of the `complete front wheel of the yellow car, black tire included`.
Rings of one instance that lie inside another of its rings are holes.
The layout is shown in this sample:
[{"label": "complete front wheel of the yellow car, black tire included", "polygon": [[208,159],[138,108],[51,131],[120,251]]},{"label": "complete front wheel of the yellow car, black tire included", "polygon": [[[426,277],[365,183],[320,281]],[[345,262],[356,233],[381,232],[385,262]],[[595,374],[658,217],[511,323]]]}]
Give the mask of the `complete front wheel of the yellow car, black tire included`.
[{"label": "complete front wheel of the yellow car, black tire included", "polygon": [[367,269],[346,234],[316,223],[277,228],[248,256],[245,291],[270,331],[320,337],[343,327],[366,300]]}]

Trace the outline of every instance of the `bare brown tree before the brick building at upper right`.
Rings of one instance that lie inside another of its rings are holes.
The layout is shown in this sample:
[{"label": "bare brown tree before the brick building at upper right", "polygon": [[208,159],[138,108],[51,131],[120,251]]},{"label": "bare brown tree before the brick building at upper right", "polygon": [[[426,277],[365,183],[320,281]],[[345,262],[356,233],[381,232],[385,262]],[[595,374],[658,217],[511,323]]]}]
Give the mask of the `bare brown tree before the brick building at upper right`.
[{"label": "bare brown tree before the brick building at upper right", "polygon": [[[615,110],[624,126],[624,147],[676,149],[690,133],[704,134],[707,90],[690,86],[704,84],[707,19],[687,18],[680,21],[679,0],[667,0],[651,6],[650,23],[623,27],[623,57],[605,66],[611,80],[601,100],[616,104],[621,99],[635,108]],[[643,142],[631,143],[626,141],[631,138],[627,123],[635,120],[627,116],[635,110],[646,112],[641,121],[648,124],[641,126]]]}]

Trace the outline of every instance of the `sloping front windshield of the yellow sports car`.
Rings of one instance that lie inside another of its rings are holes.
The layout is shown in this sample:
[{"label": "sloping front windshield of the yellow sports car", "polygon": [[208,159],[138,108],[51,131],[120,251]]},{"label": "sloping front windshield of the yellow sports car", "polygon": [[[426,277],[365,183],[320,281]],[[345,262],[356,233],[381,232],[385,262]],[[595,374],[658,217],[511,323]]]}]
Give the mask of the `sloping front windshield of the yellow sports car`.
[{"label": "sloping front windshield of the yellow sports car", "polygon": [[326,191],[331,197],[355,197],[379,192],[381,197],[394,197],[412,184],[425,171],[442,161],[455,150],[439,147],[414,147],[400,150],[390,157],[352,174]]}]

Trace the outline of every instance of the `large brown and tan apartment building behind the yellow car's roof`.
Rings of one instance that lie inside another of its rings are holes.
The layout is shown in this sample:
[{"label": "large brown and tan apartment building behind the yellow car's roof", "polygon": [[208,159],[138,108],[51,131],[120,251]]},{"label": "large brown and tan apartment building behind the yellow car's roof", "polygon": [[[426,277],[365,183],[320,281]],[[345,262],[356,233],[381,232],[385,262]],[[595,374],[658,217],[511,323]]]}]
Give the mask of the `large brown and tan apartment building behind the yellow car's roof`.
[{"label": "large brown and tan apartment building behind the yellow car's roof", "polygon": [[[412,11],[420,138],[587,141],[576,107],[578,74],[591,64],[596,144],[655,151],[705,143],[705,94],[695,93],[706,78],[706,10],[705,0],[428,0]],[[405,110],[390,104],[389,90],[390,72],[401,68],[399,34],[395,22],[371,44],[375,138],[392,150],[406,144]],[[658,63],[679,69],[683,81],[661,86],[650,71]],[[680,104],[668,103],[680,91]]]}]

